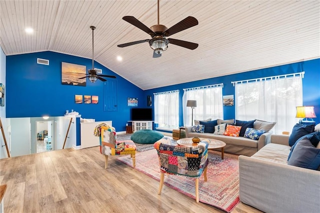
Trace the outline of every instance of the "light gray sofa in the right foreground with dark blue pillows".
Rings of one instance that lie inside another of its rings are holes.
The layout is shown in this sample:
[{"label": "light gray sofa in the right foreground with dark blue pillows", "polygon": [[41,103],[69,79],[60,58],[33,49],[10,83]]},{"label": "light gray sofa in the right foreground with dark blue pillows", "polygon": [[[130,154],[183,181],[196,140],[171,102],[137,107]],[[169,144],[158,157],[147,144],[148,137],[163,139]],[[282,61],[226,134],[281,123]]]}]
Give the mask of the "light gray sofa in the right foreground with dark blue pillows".
[{"label": "light gray sofa in the right foreground with dark blue pillows", "polygon": [[288,165],[289,135],[270,139],[251,157],[239,156],[240,201],[264,212],[320,212],[320,171]]}]

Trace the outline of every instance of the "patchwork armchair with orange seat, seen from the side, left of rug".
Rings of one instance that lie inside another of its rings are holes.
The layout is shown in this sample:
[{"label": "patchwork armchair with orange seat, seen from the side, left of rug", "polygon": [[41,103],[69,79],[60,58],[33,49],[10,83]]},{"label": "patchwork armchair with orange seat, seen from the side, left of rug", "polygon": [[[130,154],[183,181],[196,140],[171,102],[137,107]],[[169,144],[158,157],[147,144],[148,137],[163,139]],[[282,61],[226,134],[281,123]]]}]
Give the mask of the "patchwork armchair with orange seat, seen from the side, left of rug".
[{"label": "patchwork armchair with orange seat, seen from the side, left of rug", "polygon": [[115,128],[109,125],[100,125],[100,153],[104,154],[105,165],[108,166],[108,155],[130,154],[132,158],[132,165],[135,167],[135,144],[132,140],[116,140]]}]

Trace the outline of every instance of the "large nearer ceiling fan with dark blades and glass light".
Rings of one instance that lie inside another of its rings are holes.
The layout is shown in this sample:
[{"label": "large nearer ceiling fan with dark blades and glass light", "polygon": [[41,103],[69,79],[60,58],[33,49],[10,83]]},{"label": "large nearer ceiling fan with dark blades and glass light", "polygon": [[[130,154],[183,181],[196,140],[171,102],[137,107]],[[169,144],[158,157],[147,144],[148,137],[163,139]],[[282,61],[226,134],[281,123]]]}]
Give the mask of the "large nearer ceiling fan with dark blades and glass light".
[{"label": "large nearer ceiling fan with dark blades and glass light", "polygon": [[157,0],[157,12],[158,12],[158,23],[151,26],[150,28],[140,22],[133,16],[123,16],[122,19],[131,23],[132,25],[138,27],[139,29],[145,31],[151,36],[151,39],[137,40],[128,43],[118,44],[118,47],[130,46],[137,43],[149,42],[150,47],[153,49],[153,57],[160,57],[161,53],[167,49],[167,44],[172,43],[178,46],[182,46],[188,49],[195,49],[198,47],[197,43],[192,43],[185,40],[178,40],[173,38],[166,38],[174,33],[182,31],[184,29],[190,28],[198,24],[198,21],[195,17],[188,16],[181,20],[180,22],[174,24],[170,28],[159,24],[159,0]]}]

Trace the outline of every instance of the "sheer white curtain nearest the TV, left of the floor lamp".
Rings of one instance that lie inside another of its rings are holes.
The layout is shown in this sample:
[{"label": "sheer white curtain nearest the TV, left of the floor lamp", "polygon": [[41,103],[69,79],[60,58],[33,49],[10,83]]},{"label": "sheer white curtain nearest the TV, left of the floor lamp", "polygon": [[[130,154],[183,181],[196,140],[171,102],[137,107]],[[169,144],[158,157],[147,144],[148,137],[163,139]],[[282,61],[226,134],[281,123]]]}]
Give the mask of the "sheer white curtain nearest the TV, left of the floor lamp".
[{"label": "sheer white curtain nearest the TV, left of the floor lamp", "polygon": [[154,123],[162,128],[179,126],[179,90],[153,93]]}]

